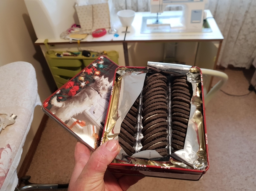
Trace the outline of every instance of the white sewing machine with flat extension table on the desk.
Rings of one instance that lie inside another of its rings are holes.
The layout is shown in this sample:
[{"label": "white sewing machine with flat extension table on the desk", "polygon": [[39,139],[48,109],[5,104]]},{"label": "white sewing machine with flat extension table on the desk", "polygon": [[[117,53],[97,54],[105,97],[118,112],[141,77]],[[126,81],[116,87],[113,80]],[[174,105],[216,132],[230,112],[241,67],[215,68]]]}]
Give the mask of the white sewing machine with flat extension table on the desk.
[{"label": "white sewing machine with flat extension table on the desk", "polygon": [[[206,0],[150,0],[151,13],[157,15],[142,18],[141,33],[202,32],[206,18],[205,2]],[[166,7],[177,6],[182,10],[164,12]]]}]

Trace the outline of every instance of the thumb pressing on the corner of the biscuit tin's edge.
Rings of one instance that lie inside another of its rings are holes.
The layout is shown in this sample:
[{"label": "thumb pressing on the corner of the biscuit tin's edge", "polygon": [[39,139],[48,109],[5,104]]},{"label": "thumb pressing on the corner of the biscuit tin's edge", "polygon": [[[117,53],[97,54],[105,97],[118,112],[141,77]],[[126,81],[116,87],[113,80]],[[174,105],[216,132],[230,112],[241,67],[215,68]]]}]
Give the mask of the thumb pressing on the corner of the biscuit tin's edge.
[{"label": "thumb pressing on the corner of the biscuit tin's edge", "polygon": [[87,181],[91,183],[103,181],[107,166],[119,152],[120,145],[118,141],[108,140],[91,154],[81,176],[87,177]]}]

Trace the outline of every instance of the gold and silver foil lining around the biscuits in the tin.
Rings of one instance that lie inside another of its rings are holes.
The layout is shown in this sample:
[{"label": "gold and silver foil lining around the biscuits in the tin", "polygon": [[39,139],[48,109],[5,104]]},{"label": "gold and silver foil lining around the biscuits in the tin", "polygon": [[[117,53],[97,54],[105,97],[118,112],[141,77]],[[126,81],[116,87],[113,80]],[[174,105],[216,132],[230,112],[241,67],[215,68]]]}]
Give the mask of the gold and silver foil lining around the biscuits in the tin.
[{"label": "gold and silver foil lining around the biscuits in the tin", "polygon": [[[110,100],[110,108],[105,124],[105,132],[102,137],[102,143],[110,139],[118,140],[120,125],[137,97],[141,94],[147,72],[161,73],[165,76],[186,75],[187,80],[191,82],[193,87],[193,96],[191,99],[191,112],[184,148],[176,151],[175,153],[171,152],[172,122],[171,112],[169,112],[168,123],[170,125],[167,130],[167,139],[169,142],[167,150],[169,150],[170,155],[162,157],[155,150],[145,150],[140,152],[142,147],[140,140],[143,138],[143,135],[141,133],[142,117],[139,114],[137,125],[138,133],[136,135],[137,143],[134,146],[136,153],[129,157],[125,151],[121,149],[118,156],[113,160],[113,163],[144,164],[151,166],[169,166],[175,168],[204,170],[208,164],[204,137],[201,73],[198,68],[192,66],[148,62],[148,69],[119,68],[117,70],[115,84],[112,89],[112,99]],[[141,102],[142,100],[140,100],[140,107],[142,105]],[[169,103],[169,106],[170,105],[171,104]],[[171,108],[169,108],[169,111],[170,109]],[[141,112],[141,108],[139,108],[139,111]]]}]

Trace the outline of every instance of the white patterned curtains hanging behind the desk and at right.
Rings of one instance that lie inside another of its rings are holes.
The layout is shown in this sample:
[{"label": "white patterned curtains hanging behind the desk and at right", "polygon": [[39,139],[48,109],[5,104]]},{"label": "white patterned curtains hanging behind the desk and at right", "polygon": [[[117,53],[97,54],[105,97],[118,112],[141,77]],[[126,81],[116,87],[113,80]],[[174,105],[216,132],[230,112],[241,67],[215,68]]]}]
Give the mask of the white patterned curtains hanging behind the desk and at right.
[{"label": "white patterned curtains hanging behind the desk and at right", "polygon": [[[149,11],[149,0],[112,1],[116,12],[123,9]],[[218,65],[249,68],[256,57],[256,0],[208,1],[206,9],[211,10],[225,38]]]}]

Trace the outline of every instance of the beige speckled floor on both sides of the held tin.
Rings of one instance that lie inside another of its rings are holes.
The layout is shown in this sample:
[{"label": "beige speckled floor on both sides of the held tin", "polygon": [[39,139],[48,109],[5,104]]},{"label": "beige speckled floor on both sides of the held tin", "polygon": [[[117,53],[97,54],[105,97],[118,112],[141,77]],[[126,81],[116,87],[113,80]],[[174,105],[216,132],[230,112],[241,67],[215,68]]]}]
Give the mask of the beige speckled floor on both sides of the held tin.
[{"label": "beige speckled floor on both sides of the held tin", "polygon": [[[231,94],[248,92],[243,71],[225,70]],[[216,81],[216,80],[214,80]],[[230,97],[222,92],[206,108],[210,168],[201,181],[144,178],[129,191],[252,191],[256,188],[256,94]],[[31,182],[67,183],[76,140],[48,120],[27,175]]]}]

